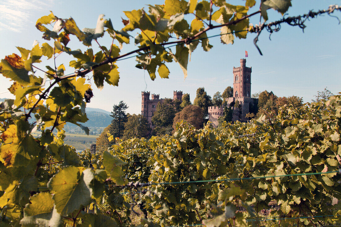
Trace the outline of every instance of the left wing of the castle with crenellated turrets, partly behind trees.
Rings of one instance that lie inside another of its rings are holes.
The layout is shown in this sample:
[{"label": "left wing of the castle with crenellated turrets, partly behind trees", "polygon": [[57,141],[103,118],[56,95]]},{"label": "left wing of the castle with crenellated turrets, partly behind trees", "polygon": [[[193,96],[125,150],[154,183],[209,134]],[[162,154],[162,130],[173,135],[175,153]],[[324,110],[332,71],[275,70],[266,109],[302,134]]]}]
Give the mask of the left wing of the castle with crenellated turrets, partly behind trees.
[{"label": "left wing of the castle with crenellated turrets, partly behind trees", "polygon": [[[149,122],[151,128],[153,128],[153,124],[151,122],[151,118],[154,116],[154,112],[156,111],[156,107],[159,102],[164,102],[164,99],[160,99],[160,94],[151,94],[149,91],[142,92],[142,107],[141,107],[141,115],[144,116]],[[173,100],[181,100],[182,99],[182,91],[173,91]]]}]

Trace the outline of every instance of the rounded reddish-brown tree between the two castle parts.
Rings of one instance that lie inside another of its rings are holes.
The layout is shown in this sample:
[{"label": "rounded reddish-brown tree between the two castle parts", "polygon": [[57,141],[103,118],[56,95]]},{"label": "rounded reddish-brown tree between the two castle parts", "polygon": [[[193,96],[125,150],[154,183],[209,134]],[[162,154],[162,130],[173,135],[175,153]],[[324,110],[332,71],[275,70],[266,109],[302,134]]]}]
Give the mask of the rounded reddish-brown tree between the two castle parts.
[{"label": "rounded reddish-brown tree between the two castle parts", "polygon": [[180,112],[176,113],[173,120],[173,129],[175,130],[176,124],[180,121],[186,121],[193,125],[196,129],[202,128],[204,124],[203,110],[197,106],[188,105]]}]

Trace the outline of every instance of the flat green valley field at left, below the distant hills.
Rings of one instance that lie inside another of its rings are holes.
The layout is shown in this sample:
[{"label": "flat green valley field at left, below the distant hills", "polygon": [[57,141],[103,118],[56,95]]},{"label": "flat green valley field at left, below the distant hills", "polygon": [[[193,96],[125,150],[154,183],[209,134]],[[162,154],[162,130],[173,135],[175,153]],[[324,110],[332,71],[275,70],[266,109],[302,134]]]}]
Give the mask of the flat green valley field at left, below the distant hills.
[{"label": "flat green valley field at left, below the distant hills", "polygon": [[[32,133],[33,136],[39,136],[40,133]],[[86,134],[74,134],[65,133],[64,143],[76,148],[76,150],[83,150],[90,147],[91,144],[96,143],[96,139],[99,135],[86,135]]]}]

